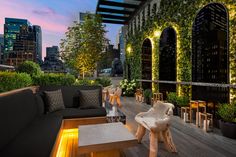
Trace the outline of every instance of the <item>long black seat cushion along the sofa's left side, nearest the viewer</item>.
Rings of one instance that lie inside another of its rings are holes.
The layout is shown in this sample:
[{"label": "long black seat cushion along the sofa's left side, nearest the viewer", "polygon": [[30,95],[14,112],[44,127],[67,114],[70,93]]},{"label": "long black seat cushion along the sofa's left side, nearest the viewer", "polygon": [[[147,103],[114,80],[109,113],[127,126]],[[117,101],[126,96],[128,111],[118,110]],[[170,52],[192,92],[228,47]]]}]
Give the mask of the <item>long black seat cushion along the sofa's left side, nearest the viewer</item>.
[{"label": "long black seat cushion along the sofa's left side, nearest the viewer", "polygon": [[61,116],[44,115],[23,130],[1,157],[49,157],[62,122]]}]

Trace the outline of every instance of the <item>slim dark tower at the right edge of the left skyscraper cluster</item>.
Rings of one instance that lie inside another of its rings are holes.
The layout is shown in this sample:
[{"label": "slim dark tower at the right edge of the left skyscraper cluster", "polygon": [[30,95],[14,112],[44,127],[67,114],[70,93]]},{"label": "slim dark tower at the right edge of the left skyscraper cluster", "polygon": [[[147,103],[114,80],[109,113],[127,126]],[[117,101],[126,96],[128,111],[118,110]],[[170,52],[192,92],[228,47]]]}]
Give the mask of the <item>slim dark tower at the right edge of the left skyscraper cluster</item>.
[{"label": "slim dark tower at the right edge of the left skyscraper cluster", "polygon": [[34,25],[35,42],[36,42],[36,61],[42,63],[42,31],[41,27]]}]

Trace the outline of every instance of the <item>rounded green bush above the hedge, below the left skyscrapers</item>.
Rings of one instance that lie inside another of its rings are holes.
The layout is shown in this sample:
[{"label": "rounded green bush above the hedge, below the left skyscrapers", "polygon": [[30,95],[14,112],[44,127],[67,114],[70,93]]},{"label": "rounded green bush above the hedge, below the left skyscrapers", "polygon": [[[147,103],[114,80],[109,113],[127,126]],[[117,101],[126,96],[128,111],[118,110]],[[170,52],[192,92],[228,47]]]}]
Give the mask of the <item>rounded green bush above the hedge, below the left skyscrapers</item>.
[{"label": "rounded green bush above the hedge, below the left skyscrapers", "polygon": [[17,68],[17,72],[27,73],[30,76],[38,76],[42,73],[40,66],[32,61],[21,63]]}]

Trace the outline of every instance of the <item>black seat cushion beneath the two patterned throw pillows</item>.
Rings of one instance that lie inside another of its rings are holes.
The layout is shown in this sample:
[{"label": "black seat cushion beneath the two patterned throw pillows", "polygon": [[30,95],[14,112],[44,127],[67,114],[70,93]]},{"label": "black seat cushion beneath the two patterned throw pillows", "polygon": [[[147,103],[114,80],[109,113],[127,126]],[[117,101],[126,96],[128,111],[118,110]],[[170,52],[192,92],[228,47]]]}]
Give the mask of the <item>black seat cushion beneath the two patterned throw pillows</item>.
[{"label": "black seat cushion beneath the two patterned throw pillows", "polygon": [[86,117],[103,117],[106,116],[106,110],[103,107],[97,109],[80,110],[77,108],[66,108],[64,110],[49,113],[50,115],[63,116],[65,119],[86,118]]}]

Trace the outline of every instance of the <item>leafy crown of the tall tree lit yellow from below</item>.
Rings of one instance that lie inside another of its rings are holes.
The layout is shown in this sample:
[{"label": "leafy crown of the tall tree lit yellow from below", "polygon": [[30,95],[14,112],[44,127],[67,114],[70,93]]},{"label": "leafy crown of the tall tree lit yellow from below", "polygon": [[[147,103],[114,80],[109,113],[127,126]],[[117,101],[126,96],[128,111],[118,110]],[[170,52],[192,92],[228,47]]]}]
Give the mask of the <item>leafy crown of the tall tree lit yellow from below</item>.
[{"label": "leafy crown of the tall tree lit yellow from below", "polygon": [[65,64],[80,74],[91,74],[105,46],[105,28],[98,15],[88,14],[83,23],[75,22],[62,39],[61,57]]}]

